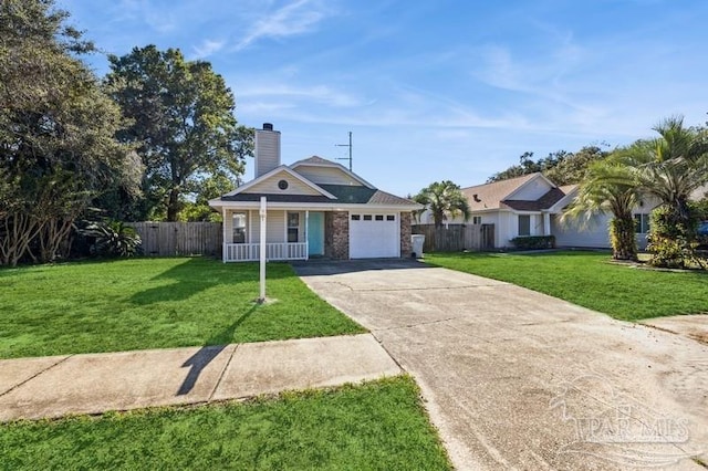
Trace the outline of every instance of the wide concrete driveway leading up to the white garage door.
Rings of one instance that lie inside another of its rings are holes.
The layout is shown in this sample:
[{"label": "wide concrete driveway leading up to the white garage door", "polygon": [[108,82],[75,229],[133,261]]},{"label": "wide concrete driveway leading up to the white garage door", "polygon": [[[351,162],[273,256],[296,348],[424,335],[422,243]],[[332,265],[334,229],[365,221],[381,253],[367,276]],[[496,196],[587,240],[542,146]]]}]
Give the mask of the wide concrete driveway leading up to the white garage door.
[{"label": "wide concrete driveway leading up to the white garage door", "polygon": [[458,469],[708,467],[706,344],[413,261],[295,270],[414,375]]}]

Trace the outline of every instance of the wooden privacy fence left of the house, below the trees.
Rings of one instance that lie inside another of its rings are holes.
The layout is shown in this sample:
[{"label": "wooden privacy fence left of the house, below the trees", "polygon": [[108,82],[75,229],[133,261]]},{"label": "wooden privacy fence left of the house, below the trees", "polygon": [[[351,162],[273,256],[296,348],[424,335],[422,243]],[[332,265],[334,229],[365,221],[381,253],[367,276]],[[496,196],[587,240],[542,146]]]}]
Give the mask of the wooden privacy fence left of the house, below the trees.
[{"label": "wooden privacy fence left of the house, below the trees", "polygon": [[221,255],[221,222],[126,222],[140,236],[145,255]]}]

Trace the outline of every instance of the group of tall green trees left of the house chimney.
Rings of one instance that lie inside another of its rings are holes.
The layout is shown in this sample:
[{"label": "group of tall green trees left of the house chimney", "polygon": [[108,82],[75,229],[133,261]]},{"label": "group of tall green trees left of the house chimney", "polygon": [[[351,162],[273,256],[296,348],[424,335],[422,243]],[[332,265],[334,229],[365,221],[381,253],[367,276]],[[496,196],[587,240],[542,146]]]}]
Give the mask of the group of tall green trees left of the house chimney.
[{"label": "group of tall green trees left of the house chimney", "polygon": [[208,62],[148,45],[98,78],[67,18],[0,2],[0,264],[66,258],[81,221],[209,219],[252,155]]}]

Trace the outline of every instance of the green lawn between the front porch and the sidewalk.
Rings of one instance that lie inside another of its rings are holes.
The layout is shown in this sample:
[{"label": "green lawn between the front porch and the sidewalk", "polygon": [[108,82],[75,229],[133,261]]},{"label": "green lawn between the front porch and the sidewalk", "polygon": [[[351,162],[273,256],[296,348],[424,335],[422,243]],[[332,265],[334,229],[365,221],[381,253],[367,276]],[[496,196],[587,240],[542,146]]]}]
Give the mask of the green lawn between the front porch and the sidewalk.
[{"label": "green lawn between the front porch and the sidewalk", "polygon": [[0,269],[0,358],[221,345],[364,329],[288,264],[132,259]]}]

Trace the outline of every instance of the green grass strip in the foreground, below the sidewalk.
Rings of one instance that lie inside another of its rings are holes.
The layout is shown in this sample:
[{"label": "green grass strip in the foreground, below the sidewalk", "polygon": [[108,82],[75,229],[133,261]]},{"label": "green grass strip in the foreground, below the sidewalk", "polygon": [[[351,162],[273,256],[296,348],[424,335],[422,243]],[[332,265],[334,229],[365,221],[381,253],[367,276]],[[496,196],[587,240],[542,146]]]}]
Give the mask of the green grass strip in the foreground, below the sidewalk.
[{"label": "green grass strip in the foreground, below the sidewalk", "polygon": [[409,377],[251,404],[0,426],[2,468],[449,470]]}]

